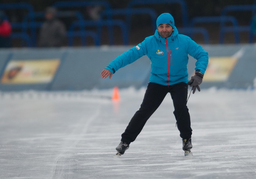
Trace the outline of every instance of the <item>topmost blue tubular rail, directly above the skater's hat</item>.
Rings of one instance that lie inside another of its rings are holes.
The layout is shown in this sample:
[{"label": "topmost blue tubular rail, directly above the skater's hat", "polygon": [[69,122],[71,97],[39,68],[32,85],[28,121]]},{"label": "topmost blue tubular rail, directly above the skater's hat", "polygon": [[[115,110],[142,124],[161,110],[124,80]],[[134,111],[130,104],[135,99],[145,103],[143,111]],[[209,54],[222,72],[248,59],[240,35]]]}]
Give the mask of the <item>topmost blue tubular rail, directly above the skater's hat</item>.
[{"label": "topmost blue tubular rail, directly above the skater's hat", "polygon": [[127,8],[133,8],[135,5],[148,5],[148,4],[179,4],[181,6],[181,15],[183,26],[188,26],[187,4],[183,0],[132,0],[128,3]]}]

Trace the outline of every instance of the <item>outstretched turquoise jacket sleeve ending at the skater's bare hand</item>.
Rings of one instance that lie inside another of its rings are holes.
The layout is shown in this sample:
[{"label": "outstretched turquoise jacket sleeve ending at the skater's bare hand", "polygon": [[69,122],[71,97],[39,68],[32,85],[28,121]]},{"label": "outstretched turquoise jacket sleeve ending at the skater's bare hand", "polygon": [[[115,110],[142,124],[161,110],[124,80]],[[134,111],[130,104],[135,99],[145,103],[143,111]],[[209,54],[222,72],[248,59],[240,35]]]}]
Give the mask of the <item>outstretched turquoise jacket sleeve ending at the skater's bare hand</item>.
[{"label": "outstretched turquoise jacket sleeve ending at the skater's bare hand", "polygon": [[128,64],[133,63],[140,57],[147,54],[146,41],[139,43],[137,46],[132,47],[123,54],[116,57],[105,69],[108,69],[111,73],[115,73],[119,68],[122,68]]}]

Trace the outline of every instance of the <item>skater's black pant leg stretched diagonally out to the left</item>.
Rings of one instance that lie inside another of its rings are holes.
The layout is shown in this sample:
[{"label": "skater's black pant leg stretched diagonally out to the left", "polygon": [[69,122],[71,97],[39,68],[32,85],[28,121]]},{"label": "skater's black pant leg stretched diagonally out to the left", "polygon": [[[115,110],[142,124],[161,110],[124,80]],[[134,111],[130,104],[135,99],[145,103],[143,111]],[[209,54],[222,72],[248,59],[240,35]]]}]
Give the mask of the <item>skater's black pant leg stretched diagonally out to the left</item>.
[{"label": "skater's black pant leg stretched diagonally out to the left", "polygon": [[148,84],[140,109],[133,115],[125,132],[122,134],[122,141],[130,144],[136,139],[149,117],[159,107],[167,93],[167,86],[156,83]]}]

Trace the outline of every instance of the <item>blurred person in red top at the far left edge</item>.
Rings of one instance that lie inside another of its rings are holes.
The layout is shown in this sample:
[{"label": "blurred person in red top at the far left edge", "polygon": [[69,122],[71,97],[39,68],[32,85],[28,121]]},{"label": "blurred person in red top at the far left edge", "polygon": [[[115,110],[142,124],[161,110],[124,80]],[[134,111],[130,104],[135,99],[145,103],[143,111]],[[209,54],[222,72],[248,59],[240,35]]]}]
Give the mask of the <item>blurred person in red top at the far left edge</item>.
[{"label": "blurred person in red top at the far left edge", "polygon": [[12,27],[3,11],[0,11],[0,48],[11,47]]}]

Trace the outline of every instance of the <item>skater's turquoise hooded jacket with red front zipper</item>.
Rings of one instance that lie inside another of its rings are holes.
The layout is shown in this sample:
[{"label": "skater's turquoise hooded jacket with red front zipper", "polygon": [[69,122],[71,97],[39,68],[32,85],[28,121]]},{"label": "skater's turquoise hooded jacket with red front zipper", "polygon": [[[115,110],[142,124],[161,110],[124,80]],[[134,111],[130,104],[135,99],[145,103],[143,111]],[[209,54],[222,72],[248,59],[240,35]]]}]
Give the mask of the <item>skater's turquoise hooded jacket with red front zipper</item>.
[{"label": "skater's turquoise hooded jacket with red front zipper", "polygon": [[189,54],[197,60],[195,71],[204,74],[208,53],[190,37],[179,34],[175,26],[173,29],[172,35],[167,38],[161,37],[156,30],[155,35],[146,37],[143,42],[116,57],[106,69],[115,73],[119,68],[147,55],[151,60],[149,82],[166,86],[187,83]]}]

